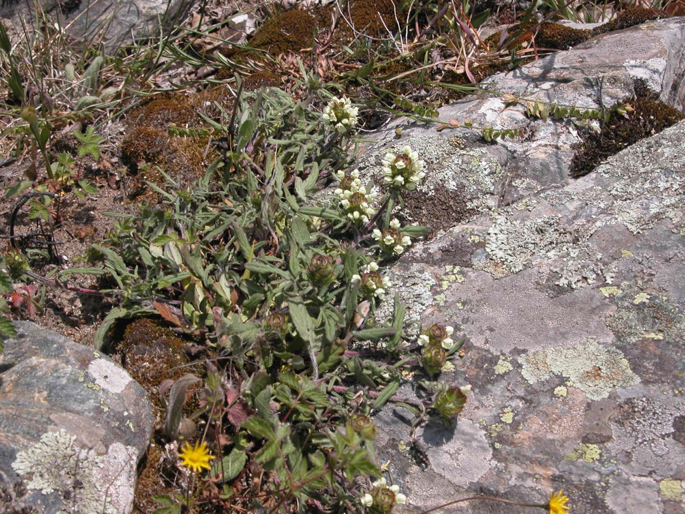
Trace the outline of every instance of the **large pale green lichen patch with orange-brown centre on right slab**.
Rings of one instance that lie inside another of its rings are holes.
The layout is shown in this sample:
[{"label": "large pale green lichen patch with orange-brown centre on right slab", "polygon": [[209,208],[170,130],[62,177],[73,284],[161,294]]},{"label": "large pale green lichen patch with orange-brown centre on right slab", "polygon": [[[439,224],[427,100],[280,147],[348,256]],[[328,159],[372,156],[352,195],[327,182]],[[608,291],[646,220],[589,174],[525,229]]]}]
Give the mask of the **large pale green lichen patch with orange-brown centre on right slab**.
[{"label": "large pale green lichen patch with orange-brown centre on right slab", "polygon": [[590,400],[608,397],[614,389],[640,382],[623,354],[588,341],[571,348],[550,348],[519,359],[521,374],[531,384],[555,375],[570,378]]}]

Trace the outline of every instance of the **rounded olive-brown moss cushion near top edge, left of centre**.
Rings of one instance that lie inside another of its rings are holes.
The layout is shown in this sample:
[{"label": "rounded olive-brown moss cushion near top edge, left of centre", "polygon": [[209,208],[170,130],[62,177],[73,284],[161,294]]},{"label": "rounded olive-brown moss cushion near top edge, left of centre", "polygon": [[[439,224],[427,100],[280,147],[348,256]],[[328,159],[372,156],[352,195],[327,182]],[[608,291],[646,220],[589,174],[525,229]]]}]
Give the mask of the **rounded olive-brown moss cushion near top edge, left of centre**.
[{"label": "rounded olive-brown moss cushion near top edge, left of centre", "polygon": [[[311,14],[297,10],[286,11],[265,23],[249,40],[249,45],[274,54],[297,53],[314,44],[315,27],[314,16]],[[241,54],[245,55],[245,52],[238,53],[238,56]]]}]

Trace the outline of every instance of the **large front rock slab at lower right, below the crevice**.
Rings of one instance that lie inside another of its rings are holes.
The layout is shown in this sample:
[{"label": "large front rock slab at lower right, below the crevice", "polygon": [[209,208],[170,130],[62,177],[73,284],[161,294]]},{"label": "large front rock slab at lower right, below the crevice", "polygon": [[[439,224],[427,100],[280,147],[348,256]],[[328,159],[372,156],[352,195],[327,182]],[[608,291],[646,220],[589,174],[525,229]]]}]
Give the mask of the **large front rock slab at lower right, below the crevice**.
[{"label": "large front rock slab at lower right, below the crevice", "polygon": [[[553,489],[574,514],[684,511],[684,148],[680,122],[390,270],[410,319],[466,338],[440,380],[473,388],[456,426],[417,431],[427,469],[401,409],[377,416],[406,512],[471,494],[545,502]],[[527,512],[493,505],[458,512]]]}]

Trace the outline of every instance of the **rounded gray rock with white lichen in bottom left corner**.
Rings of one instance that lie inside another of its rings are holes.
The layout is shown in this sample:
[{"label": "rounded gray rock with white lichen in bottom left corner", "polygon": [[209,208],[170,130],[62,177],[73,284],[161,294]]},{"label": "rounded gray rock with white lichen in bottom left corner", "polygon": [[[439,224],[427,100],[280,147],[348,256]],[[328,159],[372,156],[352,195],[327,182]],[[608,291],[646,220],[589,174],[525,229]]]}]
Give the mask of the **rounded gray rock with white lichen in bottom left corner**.
[{"label": "rounded gray rock with white lichen in bottom left corner", "polygon": [[145,391],[92,348],[15,328],[0,354],[0,511],[131,512],[153,423]]}]

